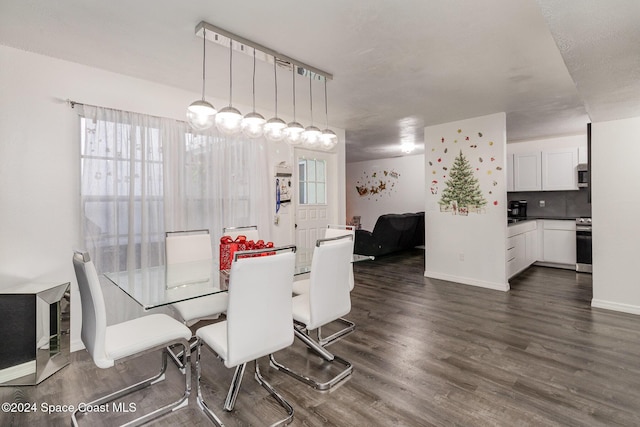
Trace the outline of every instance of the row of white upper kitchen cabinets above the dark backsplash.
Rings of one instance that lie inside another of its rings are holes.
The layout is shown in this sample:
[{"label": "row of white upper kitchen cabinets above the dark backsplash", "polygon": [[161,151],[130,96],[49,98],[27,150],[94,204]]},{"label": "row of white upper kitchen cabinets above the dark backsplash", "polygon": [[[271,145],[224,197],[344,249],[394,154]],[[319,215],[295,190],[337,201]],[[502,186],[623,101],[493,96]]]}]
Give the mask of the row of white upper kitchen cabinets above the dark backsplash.
[{"label": "row of white upper kitchen cabinets above the dark backsplash", "polygon": [[585,152],[582,135],[507,144],[507,182],[513,180],[507,191],[578,190]]}]

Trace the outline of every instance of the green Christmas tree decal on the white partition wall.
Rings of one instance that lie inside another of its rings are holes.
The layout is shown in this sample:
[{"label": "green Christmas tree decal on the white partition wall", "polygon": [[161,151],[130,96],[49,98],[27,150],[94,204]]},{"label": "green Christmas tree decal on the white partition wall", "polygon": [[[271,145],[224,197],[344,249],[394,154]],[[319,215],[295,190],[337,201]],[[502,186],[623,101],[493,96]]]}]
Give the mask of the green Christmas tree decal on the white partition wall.
[{"label": "green Christmas tree decal on the white partition wall", "polygon": [[469,212],[480,213],[481,208],[487,204],[480,190],[480,183],[473,174],[471,164],[462,154],[462,150],[453,161],[449,179],[445,185],[439,202],[441,211],[467,215]]}]

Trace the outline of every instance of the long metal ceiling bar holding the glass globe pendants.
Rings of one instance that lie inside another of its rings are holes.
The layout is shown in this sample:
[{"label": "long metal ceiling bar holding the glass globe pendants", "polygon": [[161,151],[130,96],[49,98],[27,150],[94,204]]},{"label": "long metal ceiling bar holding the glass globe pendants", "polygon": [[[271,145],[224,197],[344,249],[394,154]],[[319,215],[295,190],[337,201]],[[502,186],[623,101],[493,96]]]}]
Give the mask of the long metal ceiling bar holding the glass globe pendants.
[{"label": "long metal ceiling bar holding the glass globe pendants", "polygon": [[196,25],[195,33],[198,37],[204,37],[206,38],[206,40],[221,44],[226,47],[229,47],[230,40],[232,40],[235,42],[234,49],[247,55],[253,55],[253,49],[255,49],[256,59],[268,62],[269,64],[273,64],[274,60],[278,64],[289,63],[291,64],[291,66],[295,66],[297,68],[298,74],[310,76],[310,78],[312,79],[333,80],[333,75],[331,73],[323,71],[312,65],[305,64],[302,61],[298,61],[297,59],[291,58],[252,40],[238,36],[237,34],[233,34],[232,32],[229,32],[220,27],[216,27],[215,25],[209,24],[208,22],[201,21],[198,25]]}]

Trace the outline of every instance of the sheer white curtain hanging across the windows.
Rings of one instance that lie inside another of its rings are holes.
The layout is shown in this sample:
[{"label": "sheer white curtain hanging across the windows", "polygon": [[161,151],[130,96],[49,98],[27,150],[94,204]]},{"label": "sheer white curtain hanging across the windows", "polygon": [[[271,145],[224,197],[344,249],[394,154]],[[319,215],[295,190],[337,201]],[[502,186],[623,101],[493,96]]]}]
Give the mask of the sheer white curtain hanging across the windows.
[{"label": "sheer white curtain hanging across the windows", "polygon": [[258,225],[268,238],[266,140],[193,133],[186,122],[81,109],[81,218],[99,271],[164,263],[164,233]]}]

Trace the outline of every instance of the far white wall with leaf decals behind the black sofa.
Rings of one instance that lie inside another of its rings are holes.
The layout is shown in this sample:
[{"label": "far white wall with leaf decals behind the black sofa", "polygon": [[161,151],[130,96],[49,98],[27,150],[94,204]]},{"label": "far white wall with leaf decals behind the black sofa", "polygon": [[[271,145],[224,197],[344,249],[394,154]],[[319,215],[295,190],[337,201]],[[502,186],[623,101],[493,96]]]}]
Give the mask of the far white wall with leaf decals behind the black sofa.
[{"label": "far white wall with leaf decals behind the black sofa", "polygon": [[[424,155],[355,162],[346,167],[347,221],[359,215],[362,228],[372,231],[380,215],[424,210]],[[391,176],[391,172],[398,177]],[[360,195],[356,189],[379,187],[380,181],[385,188],[377,194],[367,190],[367,194]]]}]

